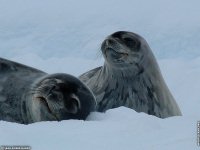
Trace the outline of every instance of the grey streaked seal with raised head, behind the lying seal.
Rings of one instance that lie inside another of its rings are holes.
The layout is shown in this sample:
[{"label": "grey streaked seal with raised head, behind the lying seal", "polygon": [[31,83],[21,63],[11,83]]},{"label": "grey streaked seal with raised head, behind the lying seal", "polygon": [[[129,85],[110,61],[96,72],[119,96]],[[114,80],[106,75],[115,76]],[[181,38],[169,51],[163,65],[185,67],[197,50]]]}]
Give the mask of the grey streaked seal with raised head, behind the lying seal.
[{"label": "grey streaked seal with raised head, behind the lying seal", "polygon": [[181,115],[144,38],[118,31],[101,51],[104,65],[79,77],[95,94],[98,111],[125,106],[159,118]]}]

